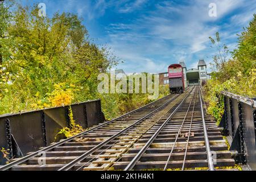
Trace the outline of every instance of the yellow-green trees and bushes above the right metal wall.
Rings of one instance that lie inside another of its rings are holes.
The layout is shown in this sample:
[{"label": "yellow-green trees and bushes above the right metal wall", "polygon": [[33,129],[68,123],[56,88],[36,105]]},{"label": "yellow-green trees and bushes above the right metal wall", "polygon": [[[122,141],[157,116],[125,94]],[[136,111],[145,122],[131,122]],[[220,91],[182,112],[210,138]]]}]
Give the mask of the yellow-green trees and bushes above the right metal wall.
[{"label": "yellow-green trees and bushes above the right metal wall", "polygon": [[220,46],[220,36],[210,38],[219,55],[213,57],[212,79],[206,85],[208,111],[220,121],[224,111],[220,92],[225,90],[250,98],[256,97],[256,15],[238,39],[238,48],[227,59],[228,48]]}]

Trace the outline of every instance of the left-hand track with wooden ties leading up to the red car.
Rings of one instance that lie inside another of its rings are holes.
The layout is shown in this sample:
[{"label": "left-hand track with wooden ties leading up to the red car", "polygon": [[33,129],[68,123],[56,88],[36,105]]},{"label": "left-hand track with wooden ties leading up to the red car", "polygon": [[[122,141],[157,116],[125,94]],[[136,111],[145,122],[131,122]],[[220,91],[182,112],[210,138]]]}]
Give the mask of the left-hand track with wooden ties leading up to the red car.
[{"label": "left-hand track with wooden ties leading up to the red car", "polygon": [[[67,161],[71,160],[67,158],[70,158],[71,156],[76,157],[84,154],[86,151],[104,142],[104,140],[122,131],[127,126],[132,125],[135,122],[142,121],[143,118],[147,118],[151,114],[154,114],[156,111],[160,110],[162,107],[170,103],[172,100],[175,100],[175,98],[178,96],[179,94],[168,95],[166,97],[161,98],[160,100],[151,102],[146,106],[140,107],[139,109],[130,111],[129,113],[126,113],[121,117],[115,118],[112,121],[104,122],[98,126],[94,126],[81,134],[75,135],[74,137],[61,140],[58,143],[53,143],[50,146],[44,147],[39,151],[30,152],[27,156],[24,156],[23,158],[20,159],[15,159],[13,162],[0,167],[0,170],[59,169],[60,167],[64,166],[64,164],[67,163]],[[85,135],[88,135],[88,137],[85,138]],[[83,143],[80,144],[78,141],[82,141]],[[52,159],[55,156],[58,156],[58,158],[61,158],[61,156],[63,156],[65,162],[63,163],[61,161],[60,164],[57,161],[53,163],[52,160],[50,160],[51,162],[49,162],[48,159]],[[40,163],[44,162],[44,157],[46,158],[46,168],[43,168],[42,165],[40,165]],[[34,162],[36,159],[39,160],[37,160],[37,162]],[[40,162],[40,160],[42,160],[42,162]],[[25,164],[27,168],[23,168]]]}]

